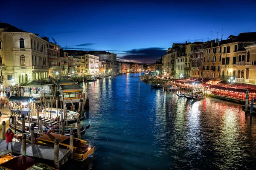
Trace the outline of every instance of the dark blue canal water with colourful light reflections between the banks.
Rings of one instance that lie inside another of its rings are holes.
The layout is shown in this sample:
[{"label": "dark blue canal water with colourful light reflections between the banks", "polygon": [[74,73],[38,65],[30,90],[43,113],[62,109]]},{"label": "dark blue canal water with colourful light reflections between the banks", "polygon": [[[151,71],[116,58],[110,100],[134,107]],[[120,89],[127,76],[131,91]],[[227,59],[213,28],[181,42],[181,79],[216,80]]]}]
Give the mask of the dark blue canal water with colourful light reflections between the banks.
[{"label": "dark blue canal water with colourful light reflections between the banks", "polygon": [[178,98],[126,74],[81,84],[93,158],[67,169],[255,169],[256,121],[241,105]]}]

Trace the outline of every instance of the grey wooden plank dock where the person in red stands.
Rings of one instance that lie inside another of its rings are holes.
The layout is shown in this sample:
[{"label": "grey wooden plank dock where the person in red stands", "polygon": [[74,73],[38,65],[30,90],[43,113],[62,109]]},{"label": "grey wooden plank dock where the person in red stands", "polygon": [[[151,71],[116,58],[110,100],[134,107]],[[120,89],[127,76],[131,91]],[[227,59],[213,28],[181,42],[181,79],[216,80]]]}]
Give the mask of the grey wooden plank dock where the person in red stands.
[{"label": "grey wooden plank dock where the person in red stands", "polygon": [[[13,153],[22,154],[22,142],[12,142]],[[9,144],[9,150],[11,149],[11,144]],[[0,140],[0,150],[6,150],[6,141]],[[36,157],[40,159],[54,161],[54,147],[39,145],[39,144],[26,144],[26,156]],[[70,150],[59,149],[59,164],[62,164],[65,159],[70,156]]]}]

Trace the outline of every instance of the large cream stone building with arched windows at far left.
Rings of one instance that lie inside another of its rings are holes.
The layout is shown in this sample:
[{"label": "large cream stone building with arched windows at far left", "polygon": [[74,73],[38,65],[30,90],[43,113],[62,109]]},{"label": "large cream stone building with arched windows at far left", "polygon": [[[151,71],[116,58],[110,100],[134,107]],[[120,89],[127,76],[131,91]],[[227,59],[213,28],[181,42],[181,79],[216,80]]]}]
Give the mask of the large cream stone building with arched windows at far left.
[{"label": "large cream stone building with arched windows at far left", "polygon": [[47,41],[8,23],[0,23],[0,81],[3,86],[48,77]]}]

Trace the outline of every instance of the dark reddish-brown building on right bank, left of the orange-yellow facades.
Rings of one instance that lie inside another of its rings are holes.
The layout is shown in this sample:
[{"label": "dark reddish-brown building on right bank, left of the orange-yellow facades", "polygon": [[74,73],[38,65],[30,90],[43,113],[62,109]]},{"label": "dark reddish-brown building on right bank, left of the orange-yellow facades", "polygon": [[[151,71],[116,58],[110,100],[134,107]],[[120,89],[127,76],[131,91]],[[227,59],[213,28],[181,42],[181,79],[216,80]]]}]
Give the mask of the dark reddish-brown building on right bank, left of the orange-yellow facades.
[{"label": "dark reddish-brown building on right bank, left of the orange-yellow facades", "polygon": [[[203,56],[204,56],[204,48],[206,48],[209,44],[214,43],[215,40],[207,41],[207,42],[198,42],[197,45],[194,45],[191,48],[190,53],[190,75],[191,77],[203,77]],[[209,65],[205,67],[205,69],[209,70]]]}]

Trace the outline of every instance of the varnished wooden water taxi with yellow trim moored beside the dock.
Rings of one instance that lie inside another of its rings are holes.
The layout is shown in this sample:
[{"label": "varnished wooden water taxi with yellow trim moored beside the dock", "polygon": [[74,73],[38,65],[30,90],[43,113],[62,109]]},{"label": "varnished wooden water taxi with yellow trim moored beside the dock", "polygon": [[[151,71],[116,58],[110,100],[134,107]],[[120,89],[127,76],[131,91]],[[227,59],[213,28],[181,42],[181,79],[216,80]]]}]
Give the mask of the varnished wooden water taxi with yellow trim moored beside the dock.
[{"label": "varnished wooden water taxi with yellow trim moored beside the dock", "polygon": [[[47,133],[38,137],[38,144],[54,146],[54,139],[57,138],[61,148],[70,149],[70,136],[64,136],[57,133]],[[84,161],[93,154],[94,146],[87,144],[86,141],[74,138],[73,143],[74,159]]]}]

